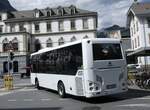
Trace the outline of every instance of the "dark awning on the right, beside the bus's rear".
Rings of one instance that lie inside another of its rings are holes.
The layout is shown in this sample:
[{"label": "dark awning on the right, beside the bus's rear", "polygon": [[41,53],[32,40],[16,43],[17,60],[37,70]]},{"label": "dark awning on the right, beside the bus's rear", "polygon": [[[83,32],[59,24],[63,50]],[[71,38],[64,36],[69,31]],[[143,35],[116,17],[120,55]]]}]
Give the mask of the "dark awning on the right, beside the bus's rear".
[{"label": "dark awning on the right, beside the bus's rear", "polygon": [[130,56],[150,56],[150,47],[141,47],[127,54],[127,57]]}]

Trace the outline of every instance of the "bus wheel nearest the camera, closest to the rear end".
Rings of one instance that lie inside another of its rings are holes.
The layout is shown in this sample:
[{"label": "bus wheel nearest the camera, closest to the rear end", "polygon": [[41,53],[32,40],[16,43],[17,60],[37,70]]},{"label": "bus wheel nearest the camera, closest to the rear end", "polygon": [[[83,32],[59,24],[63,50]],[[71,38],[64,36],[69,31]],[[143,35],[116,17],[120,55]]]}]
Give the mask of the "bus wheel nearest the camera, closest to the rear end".
[{"label": "bus wheel nearest the camera, closest to the rear end", "polygon": [[61,98],[65,98],[66,92],[65,92],[65,86],[63,82],[58,83],[58,94]]}]

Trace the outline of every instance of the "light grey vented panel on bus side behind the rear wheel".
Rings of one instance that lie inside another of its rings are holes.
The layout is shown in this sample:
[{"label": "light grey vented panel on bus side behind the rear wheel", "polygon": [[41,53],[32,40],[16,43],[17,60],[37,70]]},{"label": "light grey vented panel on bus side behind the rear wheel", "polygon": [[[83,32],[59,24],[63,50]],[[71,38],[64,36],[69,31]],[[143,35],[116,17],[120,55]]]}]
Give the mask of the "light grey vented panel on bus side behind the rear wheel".
[{"label": "light grey vented panel on bus side behind the rear wheel", "polygon": [[77,77],[75,80],[76,80],[77,94],[82,96],[83,95],[82,78]]}]

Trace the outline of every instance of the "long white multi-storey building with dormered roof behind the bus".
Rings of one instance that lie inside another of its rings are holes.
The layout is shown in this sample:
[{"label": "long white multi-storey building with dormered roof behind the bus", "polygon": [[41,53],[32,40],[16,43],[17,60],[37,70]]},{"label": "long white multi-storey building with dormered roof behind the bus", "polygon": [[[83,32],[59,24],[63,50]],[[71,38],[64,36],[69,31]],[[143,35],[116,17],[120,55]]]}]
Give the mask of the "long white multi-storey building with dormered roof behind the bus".
[{"label": "long white multi-storey building with dormered roof behind the bus", "polygon": [[0,12],[0,71],[26,73],[31,53],[84,38],[95,38],[97,13],[69,7]]}]

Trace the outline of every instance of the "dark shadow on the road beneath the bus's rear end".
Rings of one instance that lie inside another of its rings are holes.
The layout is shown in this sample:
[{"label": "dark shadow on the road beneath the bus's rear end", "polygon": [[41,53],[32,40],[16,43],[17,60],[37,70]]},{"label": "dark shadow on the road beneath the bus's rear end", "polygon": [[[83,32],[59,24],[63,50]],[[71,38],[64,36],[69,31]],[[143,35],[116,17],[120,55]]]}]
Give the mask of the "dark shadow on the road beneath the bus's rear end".
[{"label": "dark shadow on the road beneath the bus's rear end", "polygon": [[69,97],[75,100],[86,102],[86,103],[103,104],[103,103],[110,103],[110,102],[117,102],[117,101],[123,101],[123,100],[128,100],[128,99],[140,98],[140,97],[145,97],[145,96],[150,96],[150,91],[129,89],[128,92],[125,92],[122,94],[111,95],[111,96],[102,96],[102,97],[96,97],[96,98],[84,98],[84,97],[76,97],[76,96],[69,96]]}]

